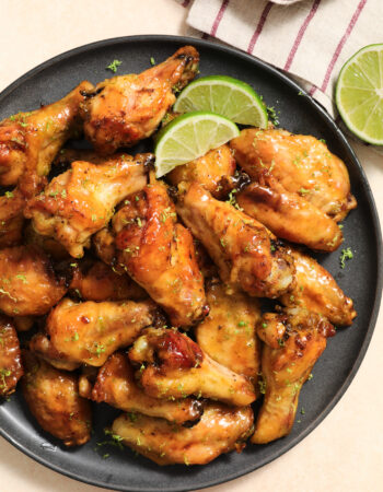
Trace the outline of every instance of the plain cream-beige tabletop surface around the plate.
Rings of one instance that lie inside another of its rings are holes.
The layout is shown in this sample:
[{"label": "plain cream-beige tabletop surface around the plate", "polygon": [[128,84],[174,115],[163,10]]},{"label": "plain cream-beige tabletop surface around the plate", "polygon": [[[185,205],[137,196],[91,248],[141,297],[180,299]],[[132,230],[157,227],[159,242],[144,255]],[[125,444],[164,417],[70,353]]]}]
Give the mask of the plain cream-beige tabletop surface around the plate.
[{"label": "plain cream-beige tabletop surface around the plate", "polygon": [[[0,0],[0,90],[37,63],[85,43],[131,34],[184,34],[184,16],[173,0]],[[383,216],[383,159],[361,145],[356,150]],[[382,491],[382,347],[381,313],[357,377],[325,421],[276,461],[210,490]],[[2,438],[0,456],[1,492],[101,490],[48,470]]]}]

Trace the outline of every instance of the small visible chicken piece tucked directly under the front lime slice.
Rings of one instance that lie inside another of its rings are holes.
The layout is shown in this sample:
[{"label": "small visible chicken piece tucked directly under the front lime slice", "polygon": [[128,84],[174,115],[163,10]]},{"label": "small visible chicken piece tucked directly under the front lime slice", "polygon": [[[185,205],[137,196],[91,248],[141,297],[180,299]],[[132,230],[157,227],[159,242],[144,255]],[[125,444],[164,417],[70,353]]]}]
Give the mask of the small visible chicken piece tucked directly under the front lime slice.
[{"label": "small visible chicken piece tucked directly under the front lime slice", "polygon": [[221,145],[195,161],[175,167],[166,177],[172,185],[197,181],[213,197],[222,198],[225,190],[220,186],[220,180],[232,176],[235,167],[236,163],[229,145]]}]

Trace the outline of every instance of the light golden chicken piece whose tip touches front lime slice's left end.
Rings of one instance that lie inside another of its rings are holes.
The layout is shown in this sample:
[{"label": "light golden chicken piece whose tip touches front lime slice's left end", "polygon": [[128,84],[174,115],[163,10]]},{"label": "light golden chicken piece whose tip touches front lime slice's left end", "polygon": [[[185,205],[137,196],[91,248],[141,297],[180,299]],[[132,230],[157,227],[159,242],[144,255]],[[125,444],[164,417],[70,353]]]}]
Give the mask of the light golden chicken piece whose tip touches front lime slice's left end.
[{"label": "light golden chicken piece whose tip touches front lime slice's left end", "polygon": [[111,220],[114,208],[147,184],[146,163],[151,154],[116,155],[104,164],[77,161],[33,198],[25,216],[34,229],[53,236],[74,258],[90,247],[91,235]]}]

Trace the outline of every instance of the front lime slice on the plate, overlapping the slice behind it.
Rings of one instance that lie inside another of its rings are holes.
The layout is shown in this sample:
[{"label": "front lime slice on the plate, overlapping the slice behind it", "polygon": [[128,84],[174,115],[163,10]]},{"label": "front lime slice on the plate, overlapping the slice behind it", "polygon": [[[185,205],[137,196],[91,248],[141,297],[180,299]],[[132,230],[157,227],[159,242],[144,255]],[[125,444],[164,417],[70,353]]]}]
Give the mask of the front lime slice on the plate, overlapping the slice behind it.
[{"label": "front lime slice on the plate, overlapping the slice behind it", "polygon": [[213,113],[195,112],[177,116],[158,134],[155,176],[161,177],[239,134],[235,124]]}]

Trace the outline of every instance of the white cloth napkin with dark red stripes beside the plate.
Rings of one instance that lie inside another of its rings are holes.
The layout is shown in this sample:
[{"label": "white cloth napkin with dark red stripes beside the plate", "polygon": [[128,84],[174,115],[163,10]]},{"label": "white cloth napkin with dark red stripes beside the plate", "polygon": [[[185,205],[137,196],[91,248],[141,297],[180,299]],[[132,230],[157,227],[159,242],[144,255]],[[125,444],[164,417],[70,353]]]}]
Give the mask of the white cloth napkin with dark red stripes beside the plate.
[{"label": "white cloth napkin with dark red stripes beside the plate", "polygon": [[341,66],[383,42],[383,0],[178,0],[187,24],[287,71],[334,116]]}]

